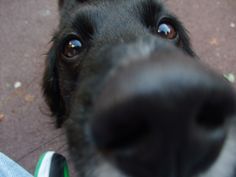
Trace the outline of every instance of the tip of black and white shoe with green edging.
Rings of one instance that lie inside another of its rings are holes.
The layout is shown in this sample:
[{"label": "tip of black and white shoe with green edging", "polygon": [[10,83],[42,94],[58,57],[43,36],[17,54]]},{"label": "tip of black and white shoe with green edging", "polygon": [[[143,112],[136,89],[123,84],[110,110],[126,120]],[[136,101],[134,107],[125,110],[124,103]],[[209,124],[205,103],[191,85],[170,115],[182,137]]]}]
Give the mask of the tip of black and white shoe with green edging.
[{"label": "tip of black and white shoe with green edging", "polygon": [[34,177],[69,177],[65,157],[53,151],[42,154],[37,163]]}]

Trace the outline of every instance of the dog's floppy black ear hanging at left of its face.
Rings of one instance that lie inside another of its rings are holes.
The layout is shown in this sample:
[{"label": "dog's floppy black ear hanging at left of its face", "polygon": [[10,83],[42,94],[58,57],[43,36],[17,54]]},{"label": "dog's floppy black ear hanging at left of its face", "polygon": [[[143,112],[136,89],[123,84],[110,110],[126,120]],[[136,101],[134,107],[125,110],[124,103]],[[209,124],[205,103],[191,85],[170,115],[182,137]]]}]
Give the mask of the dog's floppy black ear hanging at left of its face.
[{"label": "dog's floppy black ear hanging at left of its face", "polygon": [[43,76],[43,94],[52,116],[56,117],[57,127],[64,122],[65,104],[59,87],[59,74],[57,66],[57,53],[52,47],[46,58],[46,68]]}]

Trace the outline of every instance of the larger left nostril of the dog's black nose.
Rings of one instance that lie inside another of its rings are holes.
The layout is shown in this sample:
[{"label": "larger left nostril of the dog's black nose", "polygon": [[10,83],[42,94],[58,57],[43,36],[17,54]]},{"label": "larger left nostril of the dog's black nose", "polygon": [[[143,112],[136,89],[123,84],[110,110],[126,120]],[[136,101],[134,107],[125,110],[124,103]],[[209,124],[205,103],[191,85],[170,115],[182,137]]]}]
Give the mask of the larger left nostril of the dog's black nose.
[{"label": "larger left nostril of the dog's black nose", "polygon": [[100,150],[115,150],[141,141],[148,134],[145,113],[137,105],[125,103],[96,112],[91,122],[93,142]]}]

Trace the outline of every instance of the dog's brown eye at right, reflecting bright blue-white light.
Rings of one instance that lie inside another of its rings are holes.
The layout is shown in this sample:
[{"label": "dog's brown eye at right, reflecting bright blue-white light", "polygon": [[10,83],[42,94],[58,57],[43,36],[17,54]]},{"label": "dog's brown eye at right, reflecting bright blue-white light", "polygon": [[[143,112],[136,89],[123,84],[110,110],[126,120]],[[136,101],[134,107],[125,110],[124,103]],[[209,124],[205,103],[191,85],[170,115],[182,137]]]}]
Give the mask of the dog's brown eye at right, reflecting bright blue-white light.
[{"label": "dog's brown eye at right, reflecting bright blue-white light", "polygon": [[167,22],[160,23],[158,25],[157,33],[166,39],[175,39],[177,37],[177,32],[173,25]]}]

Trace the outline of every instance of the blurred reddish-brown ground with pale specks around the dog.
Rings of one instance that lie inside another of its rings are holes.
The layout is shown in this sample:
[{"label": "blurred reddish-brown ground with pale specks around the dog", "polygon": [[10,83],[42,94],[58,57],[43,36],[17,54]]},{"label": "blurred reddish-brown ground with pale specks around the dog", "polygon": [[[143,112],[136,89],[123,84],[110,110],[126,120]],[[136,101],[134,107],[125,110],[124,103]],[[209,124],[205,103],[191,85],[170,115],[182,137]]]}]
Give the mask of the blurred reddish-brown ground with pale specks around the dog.
[{"label": "blurred reddish-brown ground with pale specks around the dog", "polygon": [[[236,1],[166,4],[188,29],[202,61],[236,86]],[[48,150],[62,153],[71,163],[65,133],[55,129],[40,90],[45,54],[57,24],[57,0],[0,0],[0,151],[31,173]]]}]

